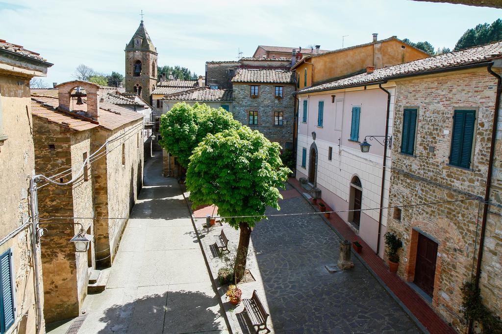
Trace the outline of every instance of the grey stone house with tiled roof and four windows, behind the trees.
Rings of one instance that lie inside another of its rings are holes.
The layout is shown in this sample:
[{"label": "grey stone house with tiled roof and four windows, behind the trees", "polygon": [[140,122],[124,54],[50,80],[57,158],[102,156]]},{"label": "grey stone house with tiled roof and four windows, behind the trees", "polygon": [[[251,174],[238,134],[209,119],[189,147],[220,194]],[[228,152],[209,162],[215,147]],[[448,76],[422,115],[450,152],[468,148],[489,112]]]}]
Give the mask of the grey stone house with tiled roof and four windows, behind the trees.
[{"label": "grey stone house with tiled roof and four windows, behind the trees", "polygon": [[237,70],[232,79],[233,118],[283,148],[293,148],[293,72]]}]

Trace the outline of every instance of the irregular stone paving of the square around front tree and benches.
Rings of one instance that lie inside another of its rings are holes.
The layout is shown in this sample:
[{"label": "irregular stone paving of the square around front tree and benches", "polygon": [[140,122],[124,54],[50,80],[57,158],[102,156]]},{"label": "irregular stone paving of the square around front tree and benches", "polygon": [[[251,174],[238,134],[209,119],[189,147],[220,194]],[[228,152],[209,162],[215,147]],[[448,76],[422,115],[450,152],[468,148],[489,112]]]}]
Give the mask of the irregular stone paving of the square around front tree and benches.
[{"label": "irregular stone paving of the square around front tree and benches", "polygon": [[[266,214],[314,212],[291,185],[282,190],[281,211],[268,208]],[[188,194],[185,194],[188,197]],[[204,227],[207,214],[217,215],[213,206],[196,208],[192,215],[207,263],[217,287],[231,332],[254,332],[242,303],[231,305],[227,286],[219,286],[218,269],[223,265],[214,248],[214,235],[224,229],[229,249],[235,249],[239,232],[227,224]],[[325,265],[338,260],[339,236],[317,215],[271,217],[252,233],[247,268],[256,281],[239,284],[242,298],[257,290],[271,314],[271,332],[407,332],[426,331],[375,279],[366,266],[353,258],[355,267],[329,273]],[[265,332],[265,330],[261,331]]]}]

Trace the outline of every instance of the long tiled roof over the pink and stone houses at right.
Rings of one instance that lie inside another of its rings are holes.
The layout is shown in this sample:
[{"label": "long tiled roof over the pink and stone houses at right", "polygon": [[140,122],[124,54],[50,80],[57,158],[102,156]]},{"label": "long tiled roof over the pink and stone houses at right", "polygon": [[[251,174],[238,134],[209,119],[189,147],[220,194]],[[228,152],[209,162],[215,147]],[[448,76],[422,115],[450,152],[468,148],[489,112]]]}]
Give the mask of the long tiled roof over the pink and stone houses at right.
[{"label": "long tiled roof over the pink and stone houses at right", "polygon": [[326,84],[305,88],[296,92],[296,94],[371,84],[410,74],[427,73],[432,70],[448,68],[454,69],[459,66],[483,63],[500,57],[502,57],[502,41],[467,50],[424,58],[405,64],[376,69],[371,74],[363,73]]}]

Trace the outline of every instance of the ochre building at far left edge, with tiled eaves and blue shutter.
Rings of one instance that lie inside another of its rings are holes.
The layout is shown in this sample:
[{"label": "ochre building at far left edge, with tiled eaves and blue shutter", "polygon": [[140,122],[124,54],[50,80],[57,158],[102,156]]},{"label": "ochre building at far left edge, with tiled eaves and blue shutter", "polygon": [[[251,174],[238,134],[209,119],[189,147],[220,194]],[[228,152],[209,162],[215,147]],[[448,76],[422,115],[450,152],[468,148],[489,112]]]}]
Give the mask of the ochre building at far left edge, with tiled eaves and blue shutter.
[{"label": "ochre building at far left edge, with tiled eaves and blue shutter", "polygon": [[[44,330],[40,248],[32,248],[29,176],[34,174],[30,79],[45,77],[38,53],[0,40],[0,331]],[[38,270],[35,269],[35,265]],[[38,283],[38,284],[37,284]]]}]

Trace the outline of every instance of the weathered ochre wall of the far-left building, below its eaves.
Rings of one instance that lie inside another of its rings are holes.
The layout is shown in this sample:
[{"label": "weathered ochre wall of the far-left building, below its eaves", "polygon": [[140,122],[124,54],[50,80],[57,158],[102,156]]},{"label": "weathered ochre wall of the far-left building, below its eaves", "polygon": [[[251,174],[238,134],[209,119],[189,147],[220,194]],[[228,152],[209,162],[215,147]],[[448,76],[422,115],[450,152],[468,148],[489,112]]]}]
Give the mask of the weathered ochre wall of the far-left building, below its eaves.
[{"label": "weathered ochre wall of the far-left building, below its eaves", "polygon": [[[34,174],[35,159],[32,139],[30,78],[17,78],[0,73],[0,104],[4,131],[0,141],[0,238],[21,226],[29,217],[29,175]],[[0,245],[0,252],[13,252],[16,325],[19,332],[36,328],[35,278],[29,229],[22,229]],[[40,262],[40,251],[37,249]],[[42,267],[39,266],[40,284],[43,284]],[[43,295],[39,301],[43,307]],[[23,314],[27,314],[24,316]],[[43,315],[42,328],[45,327]]]}]

